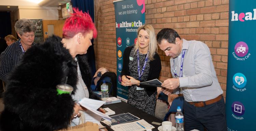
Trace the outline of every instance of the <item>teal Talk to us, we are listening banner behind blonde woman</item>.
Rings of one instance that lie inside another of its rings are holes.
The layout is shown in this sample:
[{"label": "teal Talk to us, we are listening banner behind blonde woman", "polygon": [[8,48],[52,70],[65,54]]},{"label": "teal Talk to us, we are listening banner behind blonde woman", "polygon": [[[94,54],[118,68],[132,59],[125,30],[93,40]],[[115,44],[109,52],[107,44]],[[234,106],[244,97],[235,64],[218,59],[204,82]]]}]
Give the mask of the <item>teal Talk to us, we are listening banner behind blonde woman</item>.
[{"label": "teal Talk to us, we are listening banner behind blonde woman", "polygon": [[121,85],[123,53],[137,41],[137,29],[145,24],[145,0],[117,0],[115,6],[117,98],[127,102],[128,87]]}]

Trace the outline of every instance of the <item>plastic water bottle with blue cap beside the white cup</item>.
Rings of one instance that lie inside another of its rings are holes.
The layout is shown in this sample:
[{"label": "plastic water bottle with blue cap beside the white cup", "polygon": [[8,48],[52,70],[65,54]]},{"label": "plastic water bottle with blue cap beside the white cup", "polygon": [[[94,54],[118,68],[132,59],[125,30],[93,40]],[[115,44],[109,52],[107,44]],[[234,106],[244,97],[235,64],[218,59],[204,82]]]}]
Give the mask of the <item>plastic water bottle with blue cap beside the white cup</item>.
[{"label": "plastic water bottle with blue cap beside the white cup", "polygon": [[177,112],[175,114],[175,123],[176,123],[176,131],[184,131],[184,116],[181,112],[181,107],[177,107]]}]

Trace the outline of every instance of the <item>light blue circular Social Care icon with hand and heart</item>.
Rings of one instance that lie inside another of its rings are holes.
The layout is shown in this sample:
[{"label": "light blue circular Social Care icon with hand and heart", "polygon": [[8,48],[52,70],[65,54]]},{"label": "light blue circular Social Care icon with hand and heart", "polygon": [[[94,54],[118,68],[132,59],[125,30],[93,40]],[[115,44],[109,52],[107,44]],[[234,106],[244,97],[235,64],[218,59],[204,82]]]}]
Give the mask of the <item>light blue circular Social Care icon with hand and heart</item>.
[{"label": "light blue circular Social Care icon with hand and heart", "polygon": [[242,73],[236,73],[233,76],[233,83],[234,86],[236,86],[237,88],[243,88],[246,85],[246,77],[244,76],[244,74]]}]

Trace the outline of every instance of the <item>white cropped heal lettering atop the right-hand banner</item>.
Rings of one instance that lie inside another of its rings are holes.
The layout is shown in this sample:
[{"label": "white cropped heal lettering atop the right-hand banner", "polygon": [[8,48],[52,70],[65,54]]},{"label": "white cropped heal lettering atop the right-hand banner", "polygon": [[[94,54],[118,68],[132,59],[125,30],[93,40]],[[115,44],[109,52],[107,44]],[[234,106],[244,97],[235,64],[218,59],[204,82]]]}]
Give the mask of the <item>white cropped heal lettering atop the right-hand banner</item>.
[{"label": "white cropped heal lettering atop the right-hand banner", "polygon": [[235,11],[231,11],[231,21],[241,21],[244,22],[245,20],[256,20],[256,8],[253,9],[253,12],[246,12],[246,13],[236,13]]}]

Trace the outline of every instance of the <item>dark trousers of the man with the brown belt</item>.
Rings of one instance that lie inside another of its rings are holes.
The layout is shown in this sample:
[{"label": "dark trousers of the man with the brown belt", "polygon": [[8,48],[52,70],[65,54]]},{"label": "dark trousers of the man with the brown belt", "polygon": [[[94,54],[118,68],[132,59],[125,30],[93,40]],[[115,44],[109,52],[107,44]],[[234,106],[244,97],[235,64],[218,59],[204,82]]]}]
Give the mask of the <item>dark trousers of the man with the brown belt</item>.
[{"label": "dark trousers of the man with the brown belt", "polygon": [[227,131],[225,102],[221,100],[206,105],[195,107],[184,100],[184,128],[185,131],[197,129],[199,131]]}]

